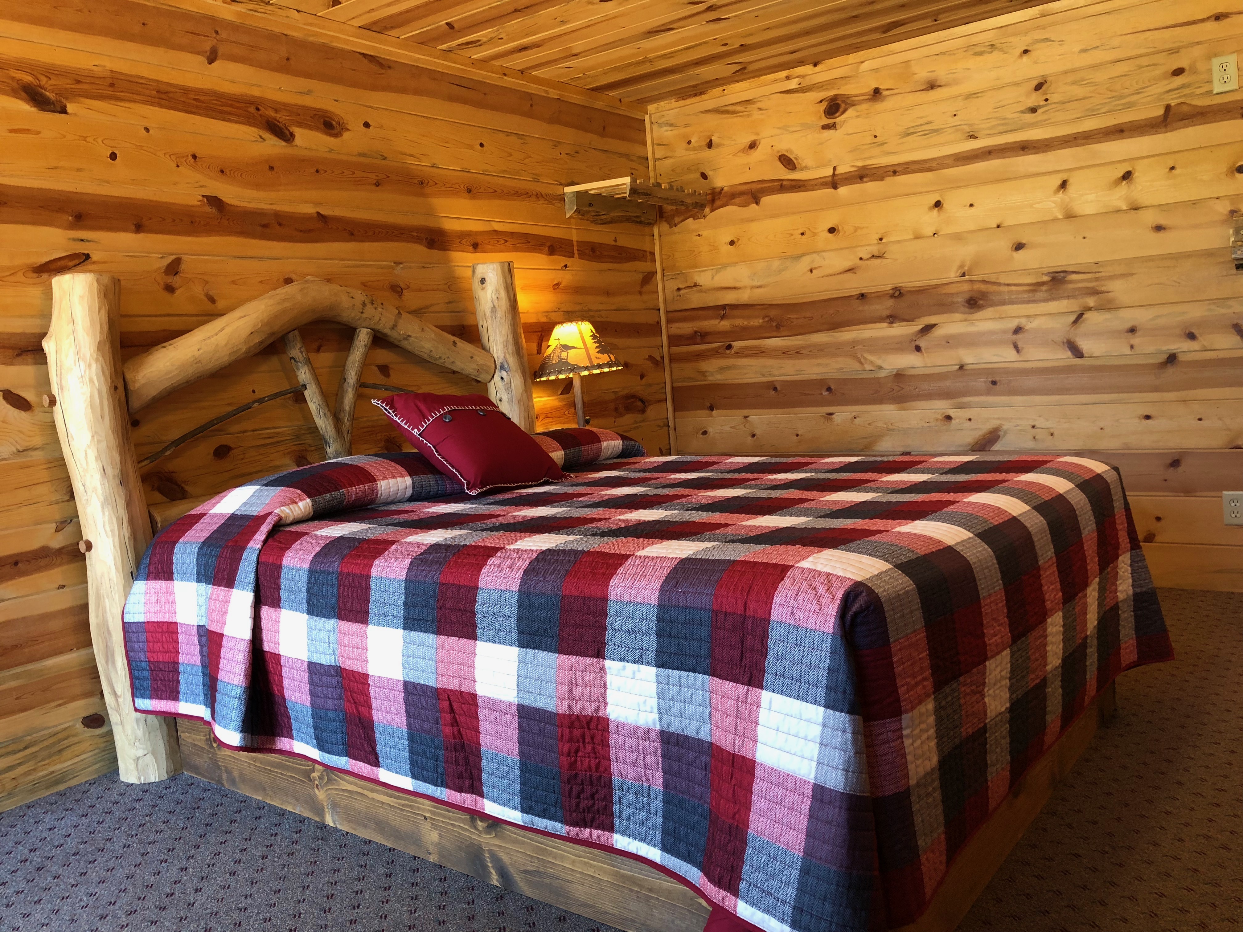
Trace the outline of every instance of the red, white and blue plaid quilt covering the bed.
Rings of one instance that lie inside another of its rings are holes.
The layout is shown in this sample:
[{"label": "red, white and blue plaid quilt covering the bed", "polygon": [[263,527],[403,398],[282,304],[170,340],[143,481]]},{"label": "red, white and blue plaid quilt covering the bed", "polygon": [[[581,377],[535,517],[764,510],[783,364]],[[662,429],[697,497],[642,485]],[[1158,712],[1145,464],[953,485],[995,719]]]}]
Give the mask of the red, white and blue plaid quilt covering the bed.
[{"label": "red, white and blue plaid quilt covering the bed", "polygon": [[469,498],[411,456],[157,537],[135,706],[646,859],[722,927],[914,921],[1086,703],[1171,657],[1091,460],[643,459]]}]

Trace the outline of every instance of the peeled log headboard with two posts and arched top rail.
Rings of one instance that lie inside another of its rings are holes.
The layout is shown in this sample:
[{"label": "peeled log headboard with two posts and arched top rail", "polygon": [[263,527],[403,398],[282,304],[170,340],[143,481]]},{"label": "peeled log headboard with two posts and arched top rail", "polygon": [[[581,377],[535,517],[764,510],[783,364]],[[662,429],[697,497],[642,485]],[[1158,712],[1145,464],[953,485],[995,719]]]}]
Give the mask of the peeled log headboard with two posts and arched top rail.
[{"label": "peeled log headboard with two posts and arched top rail", "polygon": [[[282,339],[301,383],[290,390],[306,393],[324,455],[348,456],[363,360],[373,336],[379,334],[414,355],[487,383],[487,394],[497,406],[525,430],[534,430],[533,383],[522,342],[513,265],[475,265],[471,283],[482,349],[369,295],[307,278],[122,364],[119,281],[93,272],[70,272],[52,280],[52,321],[44,339],[51,381],[46,403],[53,406],[82,523],[91,641],[122,780],[148,783],[180,770],[173,720],[134,711],[126,664],[122,610],[152,538],[129,436],[131,415]],[[328,406],[298,333],[300,327],[314,321],[354,328],[333,408]]]}]

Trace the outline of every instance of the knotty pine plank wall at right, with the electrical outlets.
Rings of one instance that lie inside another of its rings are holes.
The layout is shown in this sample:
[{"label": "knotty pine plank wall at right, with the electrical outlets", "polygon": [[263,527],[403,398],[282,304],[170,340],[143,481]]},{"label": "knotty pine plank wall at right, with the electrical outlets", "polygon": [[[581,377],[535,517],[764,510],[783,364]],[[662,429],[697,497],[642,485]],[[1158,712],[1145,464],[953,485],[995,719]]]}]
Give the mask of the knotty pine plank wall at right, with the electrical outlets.
[{"label": "knotty pine plank wall at right, with the electrical outlets", "polygon": [[[1228,7],[1228,9],[1227,9]],[[653,108],[680,452],[1085,451],[1158,584],[1243,590],[1243,50],[1062,0]]]}]

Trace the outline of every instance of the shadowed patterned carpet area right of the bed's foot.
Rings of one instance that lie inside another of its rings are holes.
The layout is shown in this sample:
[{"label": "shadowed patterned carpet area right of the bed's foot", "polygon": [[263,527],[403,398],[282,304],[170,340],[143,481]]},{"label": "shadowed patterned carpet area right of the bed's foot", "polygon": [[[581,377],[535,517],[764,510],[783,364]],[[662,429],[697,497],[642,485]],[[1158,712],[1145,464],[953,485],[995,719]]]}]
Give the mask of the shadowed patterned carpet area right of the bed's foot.
[{"label": "shadowed patterned carpet area right of the bed's foot", "polygon": [[1162,589],[1176,660],[1103,729],[960,932],[1243,930],[1243,594]]}]

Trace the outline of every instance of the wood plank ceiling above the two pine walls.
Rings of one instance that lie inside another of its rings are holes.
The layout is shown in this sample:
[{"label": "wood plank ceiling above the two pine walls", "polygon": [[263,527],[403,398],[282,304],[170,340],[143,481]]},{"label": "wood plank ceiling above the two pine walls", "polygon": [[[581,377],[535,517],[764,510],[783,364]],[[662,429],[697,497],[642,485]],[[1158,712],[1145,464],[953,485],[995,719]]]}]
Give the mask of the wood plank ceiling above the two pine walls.
[{"label": "wood plank ceiling above the two pine walls", "polygon": [[1045,0],[272,0],[651,103]]}]

